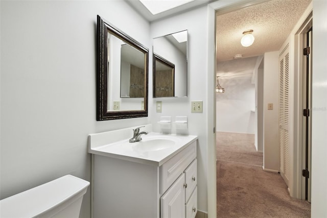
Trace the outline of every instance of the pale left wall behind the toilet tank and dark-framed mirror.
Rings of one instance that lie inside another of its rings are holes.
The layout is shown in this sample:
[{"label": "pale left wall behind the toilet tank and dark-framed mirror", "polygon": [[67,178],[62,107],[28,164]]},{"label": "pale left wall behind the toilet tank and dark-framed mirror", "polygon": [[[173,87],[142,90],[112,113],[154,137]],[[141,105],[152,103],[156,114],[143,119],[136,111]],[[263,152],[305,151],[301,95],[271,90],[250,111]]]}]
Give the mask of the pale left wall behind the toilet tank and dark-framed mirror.
[{"label": "pale left wall behind the toilet tank and dark-framed mirror", "polygon": [[124,1],[0,4],[1,199],[68,173],[90,181],[88,134],[150,122],[96,121],[97,14],[150,48],[148,21]]}]

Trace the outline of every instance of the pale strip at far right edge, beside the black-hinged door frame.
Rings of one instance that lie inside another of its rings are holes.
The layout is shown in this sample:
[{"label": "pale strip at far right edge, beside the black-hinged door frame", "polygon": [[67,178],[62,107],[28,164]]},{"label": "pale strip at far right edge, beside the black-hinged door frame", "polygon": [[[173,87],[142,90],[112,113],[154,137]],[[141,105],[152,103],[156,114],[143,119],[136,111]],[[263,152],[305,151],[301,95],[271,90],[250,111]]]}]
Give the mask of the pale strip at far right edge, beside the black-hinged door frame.
[{"label": "pale strip at far right edge, beside the black-hinged door frame", "polygon": [[327,217],[326,12],[326,1],[313,1],[311,217]]}]

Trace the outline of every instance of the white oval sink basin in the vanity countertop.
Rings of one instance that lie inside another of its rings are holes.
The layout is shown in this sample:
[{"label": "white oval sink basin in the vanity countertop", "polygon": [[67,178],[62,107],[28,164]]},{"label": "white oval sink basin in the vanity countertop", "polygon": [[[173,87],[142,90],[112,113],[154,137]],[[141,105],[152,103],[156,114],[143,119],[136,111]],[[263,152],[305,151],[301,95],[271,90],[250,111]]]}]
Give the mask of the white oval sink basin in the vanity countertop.
[{"label": "white oval sink basin in the vanity countertop", "polygon": [[143,139],[142,141],[135,142],[133,150],[135,151],[155,151],[163,150],[166,148],[173,147],[175,141],[171,139]]}]

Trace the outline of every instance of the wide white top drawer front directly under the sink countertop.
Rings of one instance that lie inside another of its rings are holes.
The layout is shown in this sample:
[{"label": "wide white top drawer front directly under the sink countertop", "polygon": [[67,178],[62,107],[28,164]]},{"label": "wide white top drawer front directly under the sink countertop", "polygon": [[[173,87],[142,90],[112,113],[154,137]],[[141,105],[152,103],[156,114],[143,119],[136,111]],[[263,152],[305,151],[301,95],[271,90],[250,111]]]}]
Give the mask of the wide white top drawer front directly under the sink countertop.
[{"label": "wide white top drawer front directly under the sink countertop", "polygon": [[196,158],[196,141],[160,166],[160,195],[175,182]]}]

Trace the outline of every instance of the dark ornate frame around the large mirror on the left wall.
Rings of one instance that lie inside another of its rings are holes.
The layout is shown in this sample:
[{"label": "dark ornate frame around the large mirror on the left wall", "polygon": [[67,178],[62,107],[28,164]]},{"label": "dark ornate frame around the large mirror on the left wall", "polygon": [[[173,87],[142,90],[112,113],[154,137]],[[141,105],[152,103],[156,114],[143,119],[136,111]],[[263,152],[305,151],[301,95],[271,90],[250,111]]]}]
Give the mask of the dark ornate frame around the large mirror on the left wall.
[{"label": "dark ornate frame around the large mirror on the left wall", "polygon": [[[145,97],[144,110],[135,111],[108,111],[108,54],[107,54],[107,34],[110,33],[123,41],[129,43],[135,49],[145,54]],[[148,116],[148,86],[149,86],[149,49],[141,43],[111,25],[108,21],[97,16],[97,121],[114,120]]]}]

